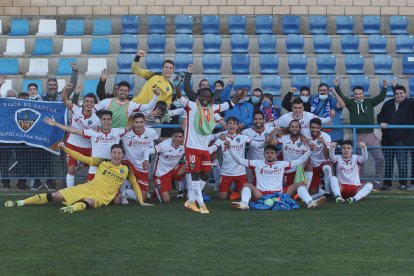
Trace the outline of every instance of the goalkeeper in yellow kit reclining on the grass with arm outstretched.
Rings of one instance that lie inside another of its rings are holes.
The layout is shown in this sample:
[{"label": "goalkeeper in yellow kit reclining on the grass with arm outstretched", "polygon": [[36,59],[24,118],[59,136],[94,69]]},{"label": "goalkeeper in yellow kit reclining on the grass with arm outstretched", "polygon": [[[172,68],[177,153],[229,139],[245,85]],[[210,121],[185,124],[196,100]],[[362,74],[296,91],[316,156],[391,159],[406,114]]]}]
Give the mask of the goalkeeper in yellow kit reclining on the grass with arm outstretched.
[{"label": "goalkeeper in yellow kit reclining on the grass with arm outstretched", "polygon": [[128,179],[134,188],[136,197],[142,206],[150,206],[142,200],[141,190],[135,176],[125,165],[122,165],[124,150],[120,144],[111,147],[111,159],[86,157],[69,148],[63,143],[59,144],[67,154],[85,164],[97,166],[95,178],[85,184],[62,189],[55,193],[38,194],[25,200],[16,202],[7,201],[6,207],[24,206],[32,204],[45,204],[49,201],[59,201],[67,205],[60,209],[63,213],[83,211],[86,208],[98,208],[111,203],[121,184]]}]

